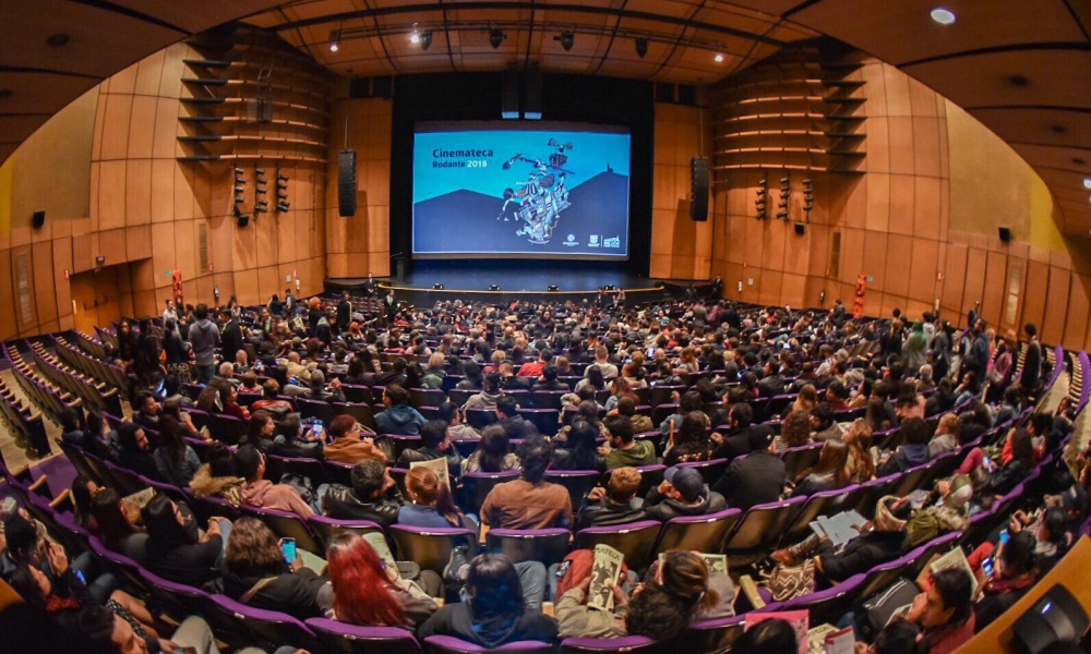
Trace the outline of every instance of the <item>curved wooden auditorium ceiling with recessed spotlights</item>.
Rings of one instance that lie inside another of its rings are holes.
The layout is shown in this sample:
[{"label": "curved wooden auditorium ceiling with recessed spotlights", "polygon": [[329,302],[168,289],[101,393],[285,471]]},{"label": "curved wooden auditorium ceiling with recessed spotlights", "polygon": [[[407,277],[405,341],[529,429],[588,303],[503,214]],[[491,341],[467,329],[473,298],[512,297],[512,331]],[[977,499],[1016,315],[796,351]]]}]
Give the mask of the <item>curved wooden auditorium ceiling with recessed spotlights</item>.
[{"label": "curved wooden auditorium ceiling with recessed spotlights", "polygon": [[966,108],[1036,169],[1065,232],[1091,231],[1088,0],[4,0],[0,161],[106,76],[236,20],[351,76],[536,63],[696,85],[826,34]]}]

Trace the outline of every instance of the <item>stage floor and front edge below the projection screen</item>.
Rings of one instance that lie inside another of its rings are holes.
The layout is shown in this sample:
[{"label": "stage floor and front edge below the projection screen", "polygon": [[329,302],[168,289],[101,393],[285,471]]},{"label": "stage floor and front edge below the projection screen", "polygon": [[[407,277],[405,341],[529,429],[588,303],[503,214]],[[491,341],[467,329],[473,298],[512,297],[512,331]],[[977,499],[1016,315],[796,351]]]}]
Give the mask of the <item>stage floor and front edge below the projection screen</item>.
[{"label": "stage floor and front edge below the projection screen", "polygon": [[[362,293],[367,279],[326,279],[327,292],[348,290]],[[463,300],[508,304],[525,302],[580,302],[592,300],[600,288],[612,286],[625,289],[627,302],[637,304],[681,298],[691,283],[705,286],[705,281],[674,281],[650,279],[607,262],[526,261],[526,259],[429,259],[412,262],[412,270],[405,281],[392,277],[375,278],[380,292],[394,289],[398,300],[417,306],[431,306],[435,302]],[[443,284],[434,289],[433,284]],[[493,284],[500,290],[490,290]],[[556,286],[556,291],[549,291]]]}]

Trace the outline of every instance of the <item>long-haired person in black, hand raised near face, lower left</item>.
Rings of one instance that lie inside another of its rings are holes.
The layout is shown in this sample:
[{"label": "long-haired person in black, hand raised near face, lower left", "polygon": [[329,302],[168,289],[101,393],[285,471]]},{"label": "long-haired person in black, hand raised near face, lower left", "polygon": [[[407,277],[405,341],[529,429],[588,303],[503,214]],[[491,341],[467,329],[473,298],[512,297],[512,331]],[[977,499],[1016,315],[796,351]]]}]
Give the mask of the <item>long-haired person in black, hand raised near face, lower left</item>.
[{"label": "long-haired person in black, hand raised near face, lower left", "polygon": [[209,520],[207,531],[202,532],[188,506],[161,493],[152,497],[141,516],[148,536],[145,568],[168,581],[218,591],[214,582],[219,579],[224,555],[220,523],[229,526],[229,522]]}]

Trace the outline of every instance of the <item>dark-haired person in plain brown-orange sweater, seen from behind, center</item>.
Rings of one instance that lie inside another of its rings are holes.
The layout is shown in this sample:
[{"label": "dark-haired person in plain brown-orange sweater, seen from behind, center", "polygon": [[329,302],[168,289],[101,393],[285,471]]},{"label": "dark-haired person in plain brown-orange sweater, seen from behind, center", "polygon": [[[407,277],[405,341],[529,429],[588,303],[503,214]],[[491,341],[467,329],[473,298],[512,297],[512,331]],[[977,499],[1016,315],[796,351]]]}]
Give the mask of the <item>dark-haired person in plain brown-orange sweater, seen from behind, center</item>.
[{"label": "dark-haired person in plain brown-orange sweater, seen from behind, center", "polygon": [[519,445],[523,475],[513,482],[496,484],[481,505],[480,540],[491,528],[548,529],[572,526],[572,497],[560,484],[544,481],[553,446],[540,436]]}]

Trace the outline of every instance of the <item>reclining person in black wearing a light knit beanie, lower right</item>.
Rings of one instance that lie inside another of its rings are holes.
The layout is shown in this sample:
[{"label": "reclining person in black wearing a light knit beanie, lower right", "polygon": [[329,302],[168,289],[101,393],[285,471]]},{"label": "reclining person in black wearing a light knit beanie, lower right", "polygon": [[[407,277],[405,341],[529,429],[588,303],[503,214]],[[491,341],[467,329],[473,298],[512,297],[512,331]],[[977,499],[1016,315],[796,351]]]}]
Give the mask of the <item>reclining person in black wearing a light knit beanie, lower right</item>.
[{"label": "reclining person in black wearing a light knit beanie, lower right", "polygon": [[[875,507],[875,520],[872,524],[861,525],[860,535],[842,548],[835,549],[828,537],[819,538],[815,534],[802,543],[778,549],[772,554],[772,559],[795,565],[814,557],[815,568],[826,580],[842,582],[909,552],[909,533],[906,531],[909,511],[909,501],[892,496],[884,497]],[[868,526],[870,529],[865,529]]]}]

